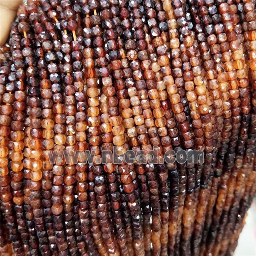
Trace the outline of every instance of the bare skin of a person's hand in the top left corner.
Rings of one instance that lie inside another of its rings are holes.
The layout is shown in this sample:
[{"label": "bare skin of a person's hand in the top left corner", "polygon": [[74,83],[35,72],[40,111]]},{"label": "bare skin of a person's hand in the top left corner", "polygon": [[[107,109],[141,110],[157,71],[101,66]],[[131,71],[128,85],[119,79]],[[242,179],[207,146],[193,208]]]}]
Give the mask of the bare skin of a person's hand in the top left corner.
[{"label": "bare skin of a person's hand in the top left corner", "polygon": [[17,15],[17,9],[22,0],[0,0],[0,45],[4,45],[8,39],[11,22]]}]

